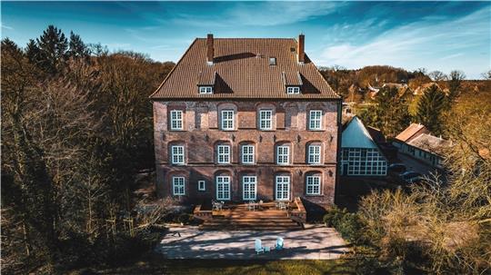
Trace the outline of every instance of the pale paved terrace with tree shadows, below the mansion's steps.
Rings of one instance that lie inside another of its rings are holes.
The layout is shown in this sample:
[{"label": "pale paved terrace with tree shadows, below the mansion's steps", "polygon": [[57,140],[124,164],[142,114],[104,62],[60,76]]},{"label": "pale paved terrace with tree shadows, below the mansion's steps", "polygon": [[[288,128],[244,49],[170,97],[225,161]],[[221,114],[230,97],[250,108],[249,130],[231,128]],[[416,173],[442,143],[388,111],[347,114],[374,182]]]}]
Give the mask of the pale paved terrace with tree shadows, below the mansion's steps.
[{"label": "pale paved terrace with tree shadows, below the mansion's steps", "polygon": [[[179,237],[176,233],[179,232]],[[254,240],[274,247],[276,237],[285,250],[256,255]],[[349,251],[331,228],[311,226],[300,231],[199,231],[197,227],[171,228],[155,248],[169,259],[308,259],[331,260]]]}]

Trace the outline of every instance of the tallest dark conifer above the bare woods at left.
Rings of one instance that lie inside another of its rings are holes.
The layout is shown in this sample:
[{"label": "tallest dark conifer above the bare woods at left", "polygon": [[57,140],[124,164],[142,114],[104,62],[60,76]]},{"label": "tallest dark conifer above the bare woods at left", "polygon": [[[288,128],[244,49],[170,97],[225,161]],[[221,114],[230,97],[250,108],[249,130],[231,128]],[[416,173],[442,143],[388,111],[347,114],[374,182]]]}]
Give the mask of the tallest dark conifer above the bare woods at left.
[{"label": "tallest dark conifer above the bare woods at left", "polygon": [[48,25],[36,43],[41,52],[40,67],[47,73],[56,74],[65,65],[68,41],[61,29]]}]

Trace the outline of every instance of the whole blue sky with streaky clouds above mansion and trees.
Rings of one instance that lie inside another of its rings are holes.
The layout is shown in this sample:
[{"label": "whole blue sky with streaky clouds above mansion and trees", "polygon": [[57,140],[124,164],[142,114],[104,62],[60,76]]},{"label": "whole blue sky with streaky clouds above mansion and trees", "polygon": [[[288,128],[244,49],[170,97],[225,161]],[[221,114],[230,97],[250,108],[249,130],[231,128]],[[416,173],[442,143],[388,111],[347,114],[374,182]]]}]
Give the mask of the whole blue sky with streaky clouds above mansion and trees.
[{"label": "whole blue sky with streaky clouds above mansion and trees", "polygon": [[491,2],[4,2],[2,37],[56,25],[86,43],[177,61],[195,37],[296,37],[319,66],[491,69]]}]

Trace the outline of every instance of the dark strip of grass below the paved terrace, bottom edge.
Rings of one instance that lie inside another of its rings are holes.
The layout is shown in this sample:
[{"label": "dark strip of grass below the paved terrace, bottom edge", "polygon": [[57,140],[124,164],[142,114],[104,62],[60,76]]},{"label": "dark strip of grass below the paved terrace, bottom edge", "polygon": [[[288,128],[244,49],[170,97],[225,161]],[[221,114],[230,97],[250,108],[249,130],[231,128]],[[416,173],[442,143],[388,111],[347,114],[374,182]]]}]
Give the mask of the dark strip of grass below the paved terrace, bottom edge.
[{"label": "dark strip of grass below the paved terrace, bottom edge", "polygon": [[[87,270],[88,271],[88,270]],[[92,273],[90,270],[87,273]],[[82,272],[85,273],[85,272]],[[354,274],[351,260],[165,260],[151,256],[95,274]],[[85,273],[86,274],[86,273]]]}]

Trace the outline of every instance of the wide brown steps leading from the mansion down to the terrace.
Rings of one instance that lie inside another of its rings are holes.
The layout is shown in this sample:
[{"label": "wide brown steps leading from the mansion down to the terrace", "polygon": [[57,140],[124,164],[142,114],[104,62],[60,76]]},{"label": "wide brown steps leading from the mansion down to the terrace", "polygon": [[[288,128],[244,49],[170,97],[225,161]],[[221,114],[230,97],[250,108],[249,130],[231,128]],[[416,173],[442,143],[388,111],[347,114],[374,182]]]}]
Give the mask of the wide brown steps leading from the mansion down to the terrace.
[{"label": "wide brown steps leading from the mansion down to the terrace", "polygon": [[265,203],[262,210],[248,211],[246,204],[239,204],[213,211],[212,219],[205,220],[202,230],[301,230],[302,225],[288,217],[287,211],[276,210],[274,203]]}]

